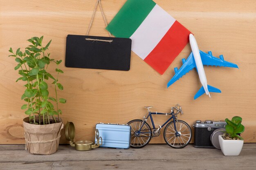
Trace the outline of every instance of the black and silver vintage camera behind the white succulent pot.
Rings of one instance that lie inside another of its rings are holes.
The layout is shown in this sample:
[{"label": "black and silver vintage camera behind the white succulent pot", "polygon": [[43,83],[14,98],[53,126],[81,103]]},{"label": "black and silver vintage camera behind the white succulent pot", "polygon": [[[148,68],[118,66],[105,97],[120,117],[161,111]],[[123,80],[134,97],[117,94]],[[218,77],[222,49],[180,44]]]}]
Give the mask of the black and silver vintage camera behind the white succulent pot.
[{"label": "black and silver vintage camera behind the white succulent pot", "polygon": [[[194,146],[195,148],[218,148],[218,135],[223,134],[222,130],[225,130],[227,123],[224,120],[212,121],[212,120],[196,120],[194,127]],[[215,140],[217,137],[217,140]],[[216,145],[213,143],[217,143]],[[213,145],[214,146],[213,146]]]}]

